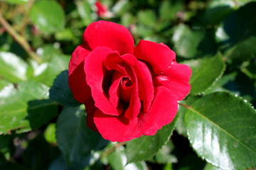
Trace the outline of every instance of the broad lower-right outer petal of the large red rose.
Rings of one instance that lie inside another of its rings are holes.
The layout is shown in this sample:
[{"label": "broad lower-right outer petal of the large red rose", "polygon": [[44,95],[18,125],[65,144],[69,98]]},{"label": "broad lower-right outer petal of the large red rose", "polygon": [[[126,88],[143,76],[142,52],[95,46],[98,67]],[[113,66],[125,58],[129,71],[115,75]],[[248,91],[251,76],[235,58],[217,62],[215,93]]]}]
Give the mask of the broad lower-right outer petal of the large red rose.
[{"label": "broad lower-right outer petal of the large red rose", "polygon": [[151,108],[139,115],[139,128],[144,135],[154,135],[162,126],[171,123],[178,111],[175,94],[164,86],[156,87]]}]

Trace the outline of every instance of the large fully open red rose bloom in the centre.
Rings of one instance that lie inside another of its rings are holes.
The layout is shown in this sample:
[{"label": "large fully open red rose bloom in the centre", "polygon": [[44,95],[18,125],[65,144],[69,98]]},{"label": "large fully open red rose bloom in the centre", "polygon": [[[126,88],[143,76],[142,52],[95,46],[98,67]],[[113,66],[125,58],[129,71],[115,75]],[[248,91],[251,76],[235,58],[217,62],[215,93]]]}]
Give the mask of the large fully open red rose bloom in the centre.
[{"label": "large fully open red rose bloom in the centre", "polygon": [[189,93],[191,69],[163,43],[134,40],[117,23],[91,23],[70,59],[68,84],[87,126],[111,141],[154,135]]}]

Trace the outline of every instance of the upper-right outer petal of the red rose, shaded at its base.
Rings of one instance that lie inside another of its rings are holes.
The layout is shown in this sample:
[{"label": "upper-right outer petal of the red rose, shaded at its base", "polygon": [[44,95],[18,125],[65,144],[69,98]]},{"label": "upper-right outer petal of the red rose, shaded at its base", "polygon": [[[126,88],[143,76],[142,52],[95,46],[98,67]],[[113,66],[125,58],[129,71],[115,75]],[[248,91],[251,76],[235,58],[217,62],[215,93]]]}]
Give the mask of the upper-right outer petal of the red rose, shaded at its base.
[{"label": "upper-right outer petal of the red rose, shaded at its base", "polygon": [[176,60],[175,52],[163,43],[157,44],[147,40],[140,40],[134,48],[134,55],[149,66],[153,74],[163,72],[171,62]]}]

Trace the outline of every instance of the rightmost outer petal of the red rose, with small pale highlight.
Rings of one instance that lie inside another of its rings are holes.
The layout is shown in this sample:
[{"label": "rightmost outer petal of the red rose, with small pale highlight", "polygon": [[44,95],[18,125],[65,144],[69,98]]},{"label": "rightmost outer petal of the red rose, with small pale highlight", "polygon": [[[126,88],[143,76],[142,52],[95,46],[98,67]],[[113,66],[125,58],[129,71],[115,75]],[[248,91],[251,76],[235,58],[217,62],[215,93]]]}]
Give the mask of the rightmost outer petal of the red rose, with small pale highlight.
[{"label": "rightmost outer petal of the red rose, with small pale highlight", "polygon": [[176,94],[178,101],[181,101],[191,89],[191,85],[188,84],[191,72],[191,69],[185,64],[171,64],[163,74],[154,77],[154,85],[166,86]]}]

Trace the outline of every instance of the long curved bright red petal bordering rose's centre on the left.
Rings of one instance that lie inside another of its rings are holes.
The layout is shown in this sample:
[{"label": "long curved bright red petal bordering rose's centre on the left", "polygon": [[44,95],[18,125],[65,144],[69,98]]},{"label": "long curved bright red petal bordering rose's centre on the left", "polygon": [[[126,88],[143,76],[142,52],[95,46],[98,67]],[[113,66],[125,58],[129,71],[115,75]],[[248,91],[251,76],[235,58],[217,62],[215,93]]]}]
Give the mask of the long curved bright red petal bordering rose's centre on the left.
[{"label": "long curved bright red petal bordering rose's centre on the left", "polygon": [[87,84],[92,91],[95,106],[108,115],[119,115],[117,109],[112,106],[102,89],[103,78],[106,70],[102,67],[103,61],[112,50],[108,47],[97,47],[85,58],[85,74]]}]

